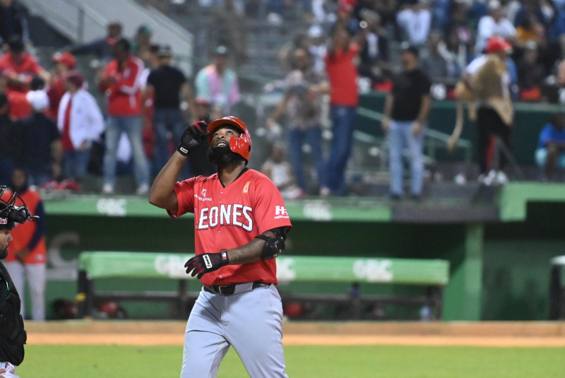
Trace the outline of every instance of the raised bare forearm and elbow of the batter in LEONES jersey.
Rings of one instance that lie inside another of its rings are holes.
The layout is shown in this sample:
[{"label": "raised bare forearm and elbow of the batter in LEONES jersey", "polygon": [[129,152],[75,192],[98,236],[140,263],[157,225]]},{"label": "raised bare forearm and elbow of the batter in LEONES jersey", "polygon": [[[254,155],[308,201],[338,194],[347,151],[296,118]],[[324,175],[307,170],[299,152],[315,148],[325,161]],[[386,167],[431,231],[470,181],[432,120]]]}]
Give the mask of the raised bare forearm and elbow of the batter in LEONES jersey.
[{"label": "raised bare forearm and elbow of the batter in LEONES jersey", "polygon": [[182,170],[187,157],[175,151],[165,167],[155,177],[149,191],[149,203],[159,208],[165,208],[170,213],[176,214],[179,210],[177,194],[174,193],[174,184]]}]

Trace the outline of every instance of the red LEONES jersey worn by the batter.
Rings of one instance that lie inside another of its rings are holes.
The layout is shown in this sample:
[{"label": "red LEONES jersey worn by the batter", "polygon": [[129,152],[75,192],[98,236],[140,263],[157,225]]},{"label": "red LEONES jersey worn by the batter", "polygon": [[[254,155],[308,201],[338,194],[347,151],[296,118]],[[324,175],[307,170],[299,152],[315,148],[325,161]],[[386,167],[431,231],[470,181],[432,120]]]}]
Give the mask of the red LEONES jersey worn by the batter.
[{"label": "red LEONES jersey worn by the batter", "polygon": [[[261,172],[246,170],[223,187],[218,174],[192,177],[174,187],[179,209],[172,218],[194,213],[196,254],[241,247],[273,228],[290,230],[290,218],[275,184]],[[261,281],[278,283],[276,259],[222,266],[206,273],[203,285]]]}]

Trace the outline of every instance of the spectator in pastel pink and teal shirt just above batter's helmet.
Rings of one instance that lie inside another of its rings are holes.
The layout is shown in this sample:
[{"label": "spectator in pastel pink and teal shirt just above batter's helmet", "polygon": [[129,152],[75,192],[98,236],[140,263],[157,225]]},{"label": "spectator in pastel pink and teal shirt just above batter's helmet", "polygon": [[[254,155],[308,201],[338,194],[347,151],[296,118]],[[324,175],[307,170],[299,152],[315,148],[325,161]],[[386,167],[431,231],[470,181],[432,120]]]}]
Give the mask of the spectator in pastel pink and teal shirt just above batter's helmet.
[{"label": "spectator in pastel pink and teal shirt just above batter's helmet", "polygon": [[239,102],[237,75],[228,68],[227,55],[227,47],[218,46],[213,63],[196,75],[196,100],[210,104],[210,119],[217,119],[220,114],[232,114],[232,107]]}]

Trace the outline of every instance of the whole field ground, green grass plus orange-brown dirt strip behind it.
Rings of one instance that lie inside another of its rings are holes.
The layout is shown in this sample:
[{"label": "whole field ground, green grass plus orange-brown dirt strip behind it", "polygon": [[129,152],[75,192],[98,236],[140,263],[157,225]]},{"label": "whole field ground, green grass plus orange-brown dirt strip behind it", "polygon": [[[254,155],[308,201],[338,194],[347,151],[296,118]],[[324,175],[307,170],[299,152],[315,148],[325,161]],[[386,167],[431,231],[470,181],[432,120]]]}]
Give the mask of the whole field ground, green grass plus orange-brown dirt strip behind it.
[{"label": "whole field ground, green grass plus orange-brown dirt strip behind it", "polygon": [[[185,326],[184,321],[28,322],[25,360],[16,373],[179,377]],[[291,378],[565,377],[565,322],[290,321],[283,331]],[[218,377],[249,377],[233,349]]]}]

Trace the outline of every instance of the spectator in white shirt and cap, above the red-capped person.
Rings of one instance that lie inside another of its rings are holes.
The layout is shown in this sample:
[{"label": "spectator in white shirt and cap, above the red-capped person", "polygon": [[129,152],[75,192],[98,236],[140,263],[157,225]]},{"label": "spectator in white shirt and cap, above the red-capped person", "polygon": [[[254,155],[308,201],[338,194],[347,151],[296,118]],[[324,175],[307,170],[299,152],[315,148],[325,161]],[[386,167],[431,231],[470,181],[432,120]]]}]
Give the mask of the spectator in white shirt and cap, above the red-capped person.
[{"label": "spectator in white shirt and cap, above the red-capped person", "polygon": [[504,18],[499,0],[490,0],[489,14],[479,20],[475,54],[482,54],[490,37],[503,37],[510,42],[516,40],[516,28],[508,18]]}]

